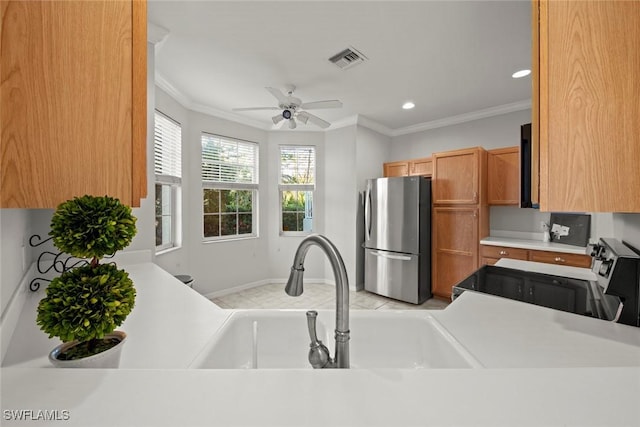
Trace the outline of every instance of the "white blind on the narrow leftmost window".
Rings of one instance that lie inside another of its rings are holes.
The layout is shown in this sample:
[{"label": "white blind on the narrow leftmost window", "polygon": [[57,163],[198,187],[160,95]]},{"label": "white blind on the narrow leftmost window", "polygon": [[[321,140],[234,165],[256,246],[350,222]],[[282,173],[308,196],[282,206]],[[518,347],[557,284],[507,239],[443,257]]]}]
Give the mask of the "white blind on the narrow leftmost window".
[{"label": "white blind on the narrow leftmost window", "polygon": [[182,178],[182,128],[159,111],[155,113],[154,172],[156,181],[180,183]]}]

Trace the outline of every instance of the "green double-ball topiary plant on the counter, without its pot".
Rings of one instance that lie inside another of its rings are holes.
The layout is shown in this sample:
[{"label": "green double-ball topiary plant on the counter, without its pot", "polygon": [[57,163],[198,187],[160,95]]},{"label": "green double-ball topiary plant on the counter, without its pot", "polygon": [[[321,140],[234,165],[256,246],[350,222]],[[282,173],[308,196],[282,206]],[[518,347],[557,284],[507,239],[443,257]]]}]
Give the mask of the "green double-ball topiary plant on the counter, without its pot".
[{"label": "green double-ball topiary plant on the counter, without its pot", "polygon": [[126,271],[99,260],[128,246],[135,224],[131,208],[109,196],[76,197],[56,209],[49,233],[53,244],[71,256],[89,258],[88,265],[55,278],[38,304],[36,322],[49,338],[80,342],[59,358],[86,357],[115,344],[104,337],[131,312],[136,291]]}]

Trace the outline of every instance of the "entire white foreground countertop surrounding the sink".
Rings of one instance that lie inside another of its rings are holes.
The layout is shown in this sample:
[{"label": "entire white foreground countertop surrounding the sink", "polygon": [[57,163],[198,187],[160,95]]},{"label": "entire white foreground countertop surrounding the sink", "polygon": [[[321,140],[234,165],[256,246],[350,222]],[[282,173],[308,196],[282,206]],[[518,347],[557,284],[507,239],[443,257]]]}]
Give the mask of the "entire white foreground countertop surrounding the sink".
[{"label": "entire white foreground countertop surrounding the sink", "polygon": [[[25,345],[32,333],[44,334],[21,319],[2,367],[3,426],[638,422],[640,328],[465,292],[432,314],[486,368],[184,369],[231,311],[217,309],[157,266],[127,271],[138,299],[122,328],[130,340],[121,369],[44,368],[53,342],[44,336]],[[34,322],[31,314],[23,316]],[[164,338],[178,339],[181,347]],[[67,410],[70,419],[7,418],[11,410],[44,409]]]}]

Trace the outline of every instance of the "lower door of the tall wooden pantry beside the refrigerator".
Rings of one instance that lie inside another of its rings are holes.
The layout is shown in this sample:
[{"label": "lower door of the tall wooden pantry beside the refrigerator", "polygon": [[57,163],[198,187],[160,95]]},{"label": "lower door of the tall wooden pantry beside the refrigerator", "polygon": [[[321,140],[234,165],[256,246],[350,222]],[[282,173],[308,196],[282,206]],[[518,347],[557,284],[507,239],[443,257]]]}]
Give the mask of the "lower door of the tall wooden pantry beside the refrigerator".
[{"label": "lower door of the tall wooden pantry beside the refrigerator", "polygon": [[478,268],[478,214],[473,207],[433,208],[434,295],[451,298],[451,288]]}]

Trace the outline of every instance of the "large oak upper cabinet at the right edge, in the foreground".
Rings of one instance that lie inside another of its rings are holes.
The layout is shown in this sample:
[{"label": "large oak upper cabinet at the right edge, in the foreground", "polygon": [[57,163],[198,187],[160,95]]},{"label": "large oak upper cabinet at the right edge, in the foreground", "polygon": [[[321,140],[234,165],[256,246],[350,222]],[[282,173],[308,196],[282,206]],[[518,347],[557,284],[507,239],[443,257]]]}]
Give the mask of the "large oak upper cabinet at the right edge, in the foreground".
[{"label": "large oak upper cabinet at the right edge, in the foreground", "polygon": [[640,212],[640,1],[533,8],[540,209]]}]

